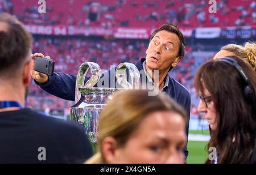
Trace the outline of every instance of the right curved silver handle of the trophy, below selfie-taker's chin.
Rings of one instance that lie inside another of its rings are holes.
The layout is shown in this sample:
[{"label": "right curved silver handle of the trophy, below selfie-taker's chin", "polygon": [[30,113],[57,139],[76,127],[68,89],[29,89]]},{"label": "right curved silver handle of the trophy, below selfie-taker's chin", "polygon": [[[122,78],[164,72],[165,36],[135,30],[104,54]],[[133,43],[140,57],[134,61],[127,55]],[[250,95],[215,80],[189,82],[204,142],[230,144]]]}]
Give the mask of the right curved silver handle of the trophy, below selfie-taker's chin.
[{"label": "right curved silver handle of the trophy, below selfie-taker's chin", "polygon": [[[129,71],[131,78],[131,83],[127,82],[126,69]],[[132,63],[121,63],[118,65],[117,70],[115,71],[115,77],[117,82],[125,89],[139,89],[140,86],[140,75],[138,68]]]}]

